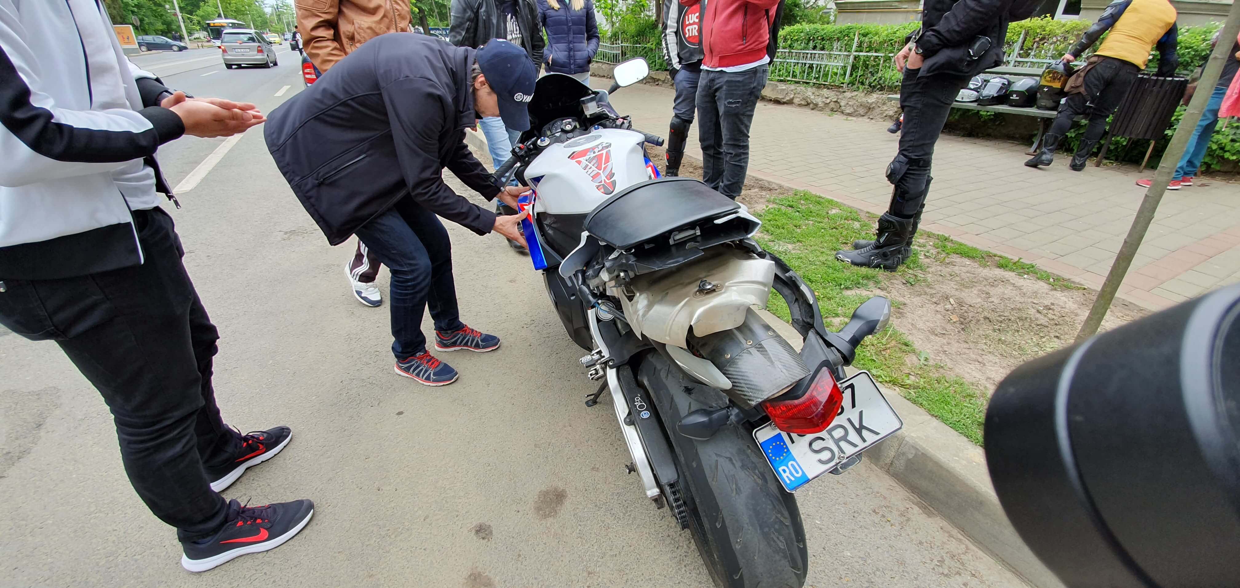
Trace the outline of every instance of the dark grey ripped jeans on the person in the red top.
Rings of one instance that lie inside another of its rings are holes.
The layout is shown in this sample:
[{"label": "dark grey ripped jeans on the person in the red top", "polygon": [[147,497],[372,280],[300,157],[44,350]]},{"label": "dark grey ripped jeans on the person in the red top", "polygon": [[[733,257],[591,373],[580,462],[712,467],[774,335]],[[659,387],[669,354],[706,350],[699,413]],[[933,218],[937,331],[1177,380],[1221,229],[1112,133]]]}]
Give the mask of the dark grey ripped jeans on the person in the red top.
[{"label": "dark grey ripped jeans on the person in the red top", "polygon": [[702,69],[698,78],[698,141],[702,181],[737,200],[749,170],[749,127],[766,87],[769,66],[743,72]]}]

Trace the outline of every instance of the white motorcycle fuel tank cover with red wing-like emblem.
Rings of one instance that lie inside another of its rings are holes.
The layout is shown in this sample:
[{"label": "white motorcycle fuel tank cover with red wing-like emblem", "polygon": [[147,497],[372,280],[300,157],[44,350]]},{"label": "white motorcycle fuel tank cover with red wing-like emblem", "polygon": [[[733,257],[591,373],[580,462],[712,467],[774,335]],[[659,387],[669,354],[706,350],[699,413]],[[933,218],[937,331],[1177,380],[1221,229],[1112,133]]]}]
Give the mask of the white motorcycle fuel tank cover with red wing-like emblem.
[{"label": "white motorcycle fuel tank cover with red wing-like emblem", "polygon": [[538,191],[536,213],[584,215],[649,180],[644,144],[641,133],[600,129],[548,146],[526,167],[526,179]]}]

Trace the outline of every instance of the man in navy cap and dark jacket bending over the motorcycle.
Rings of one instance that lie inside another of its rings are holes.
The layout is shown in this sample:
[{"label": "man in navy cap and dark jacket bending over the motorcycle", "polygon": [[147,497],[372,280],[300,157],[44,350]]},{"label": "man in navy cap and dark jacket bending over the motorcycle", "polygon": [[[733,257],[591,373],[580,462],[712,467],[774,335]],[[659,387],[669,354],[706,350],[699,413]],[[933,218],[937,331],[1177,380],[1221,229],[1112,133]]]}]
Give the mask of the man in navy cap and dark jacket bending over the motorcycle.
[{"label": "man in navy cap and dark jacket bending over the motorcycle", "polygon": [[444,184],[443,169],[487,200],[516,207],[526,189],[496,187],[465,145],[465,129],[481,117],[528,129],[537,76],[525,50],[507,41],[472,50],[391,32],[358,47],[268,119],[267,148],[327,242],[356,233],[391,269],[392,352],[401,376],[427,386],[456,381],[456,370],[427,351],[427,306],[435,350],[500,346],[495,335],[460,321],[451,244],[436,215],[525,244],[522,216],[470,203]]}]

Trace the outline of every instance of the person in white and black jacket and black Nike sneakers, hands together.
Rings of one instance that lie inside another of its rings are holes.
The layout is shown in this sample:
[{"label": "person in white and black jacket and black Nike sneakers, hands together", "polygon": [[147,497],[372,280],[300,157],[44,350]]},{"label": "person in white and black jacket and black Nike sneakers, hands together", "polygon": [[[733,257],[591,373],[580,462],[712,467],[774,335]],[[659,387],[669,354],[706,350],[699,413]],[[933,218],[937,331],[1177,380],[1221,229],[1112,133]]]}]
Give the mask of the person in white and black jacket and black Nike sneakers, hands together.
[{"label": "person in white and black jacket and black Nike sneakers, hands together", "polygon": [[291,432],[242,435],[221,419],[218,334],[156,196],[172,198],[160,145],[264,120],[253,104],[188,99],[133,66],[95,0],[0,0],[0,324],[56,341],[99,391],[134,490],[177,528],[195,572],[279,546],[314,507],[217,494]]}]

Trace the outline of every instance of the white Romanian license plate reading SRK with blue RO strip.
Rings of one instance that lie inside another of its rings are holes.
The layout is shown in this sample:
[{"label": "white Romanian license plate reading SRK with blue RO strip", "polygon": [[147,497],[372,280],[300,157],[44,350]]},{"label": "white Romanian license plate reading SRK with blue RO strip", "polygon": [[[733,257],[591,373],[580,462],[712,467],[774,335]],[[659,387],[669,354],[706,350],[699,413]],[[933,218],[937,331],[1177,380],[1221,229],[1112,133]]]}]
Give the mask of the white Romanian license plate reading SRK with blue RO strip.
[{"label": "white Romanian license plate reading SRK with blue RO strip", "polygon": [[789,434],[775,423],[754,429],[754,440],[784,489],[795,492],[904,427],[869,372],[839,382],[844,402],[821,433]]}]

